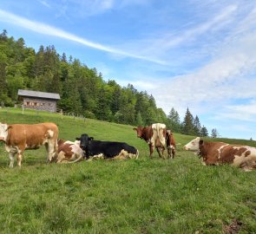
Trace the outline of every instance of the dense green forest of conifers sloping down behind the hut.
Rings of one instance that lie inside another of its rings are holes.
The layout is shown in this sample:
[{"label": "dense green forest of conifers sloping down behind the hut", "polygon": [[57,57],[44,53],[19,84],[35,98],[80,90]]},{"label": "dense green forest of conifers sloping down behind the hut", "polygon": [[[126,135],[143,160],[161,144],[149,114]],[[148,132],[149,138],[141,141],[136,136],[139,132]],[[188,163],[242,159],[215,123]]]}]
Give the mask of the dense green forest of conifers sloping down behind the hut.
[{"label": "dense green forest of conifers sloping down behind the hut", "polygon": [[54,46],[42,45],[36,52],[26,47],[23,38],[15,40],[3,29],[0,103],[7,107],[16,104],[19,88],[60,94],[58,107],[64,113],[134,126],[163,122],[176,133],[208,135],[207,127],[201,127],[198,116],[194,118],[188,108],[181,121],[174,108],[167,115],[156,107],[153,95],[146,91],[139,92],[132,84],[121,87],[114,80],[104,81],[96,68],[88,68],[72,56],[67,58],[65,53],[59,55]]}]

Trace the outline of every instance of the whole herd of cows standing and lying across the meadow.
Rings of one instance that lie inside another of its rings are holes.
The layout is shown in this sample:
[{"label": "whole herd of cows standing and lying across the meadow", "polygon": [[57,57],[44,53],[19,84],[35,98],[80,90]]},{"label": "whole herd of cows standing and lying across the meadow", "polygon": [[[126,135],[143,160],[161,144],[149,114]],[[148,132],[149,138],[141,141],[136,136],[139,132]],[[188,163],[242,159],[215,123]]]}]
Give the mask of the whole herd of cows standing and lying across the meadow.
[{"label": "whole herd of cows standing and lying across the meadow", "polygon": [[[145,140],[149,146],[149,157],[154,148],[159,157],[174,159],[176,145],[174,134],[167,130],[165,124],[154,123],[148,127],[135,127],[137,137]],[[124,142],[94,140],[83,133],[75,141],[58,139],[58,127],[55,123],[12,124],[0,122],[0,141],[10,156],[10,167],[21,166],[26,149],[45,146],[48,162],[74,163],[82,159],[138,159],[139,151]],[[230,145],[223,142],[206,142],[197,137],[185,145],[184,150],[196,153],[204,165],[231,164],[245,171],[256,169],[256,148],[251,146]]]}]

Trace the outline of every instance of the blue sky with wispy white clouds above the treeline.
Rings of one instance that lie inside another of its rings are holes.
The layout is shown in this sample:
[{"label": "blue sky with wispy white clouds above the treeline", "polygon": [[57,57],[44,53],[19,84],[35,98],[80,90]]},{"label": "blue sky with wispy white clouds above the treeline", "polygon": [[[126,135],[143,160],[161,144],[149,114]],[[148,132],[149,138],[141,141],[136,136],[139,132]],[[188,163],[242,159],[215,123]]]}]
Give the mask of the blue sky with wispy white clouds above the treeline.
[{"label": "blue sky with wispy white clouds above the treeline", "polygon": [[256,0],[0,0],[0,30],[256,140]]}]

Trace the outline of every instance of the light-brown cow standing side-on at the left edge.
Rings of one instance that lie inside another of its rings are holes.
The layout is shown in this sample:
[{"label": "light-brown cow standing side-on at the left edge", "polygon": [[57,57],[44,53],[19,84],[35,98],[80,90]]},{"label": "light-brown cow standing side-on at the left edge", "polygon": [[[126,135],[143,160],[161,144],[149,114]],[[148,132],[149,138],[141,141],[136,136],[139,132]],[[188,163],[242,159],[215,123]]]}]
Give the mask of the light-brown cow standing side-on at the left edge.
[{"label": "light-brown cow standing side-on at the left edge", "polygon": [[13,167],[16,156],[17,165],[22,165],[25,149],[38,149],[45,146],[48,161],[56,157],[58,127],[55,123],[12,124],[0,122],[0,140],[5,143],[5,150],[10,156],[10,167]]}]

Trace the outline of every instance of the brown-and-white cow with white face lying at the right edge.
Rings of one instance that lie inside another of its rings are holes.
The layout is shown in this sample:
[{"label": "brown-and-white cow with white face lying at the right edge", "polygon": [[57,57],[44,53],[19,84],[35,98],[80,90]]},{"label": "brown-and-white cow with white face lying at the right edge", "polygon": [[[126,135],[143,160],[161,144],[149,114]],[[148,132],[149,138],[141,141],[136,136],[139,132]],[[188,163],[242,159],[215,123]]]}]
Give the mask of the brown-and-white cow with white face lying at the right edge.
[{"label": "brown-and-white cow with white face lying at the right edge", "polygon": [[202,158],[203,165],[230,164],[245,171],[256,168],[256,148],[243,145],[230,145],[223,142],[207,142],[200,137],[184,146]]}]

